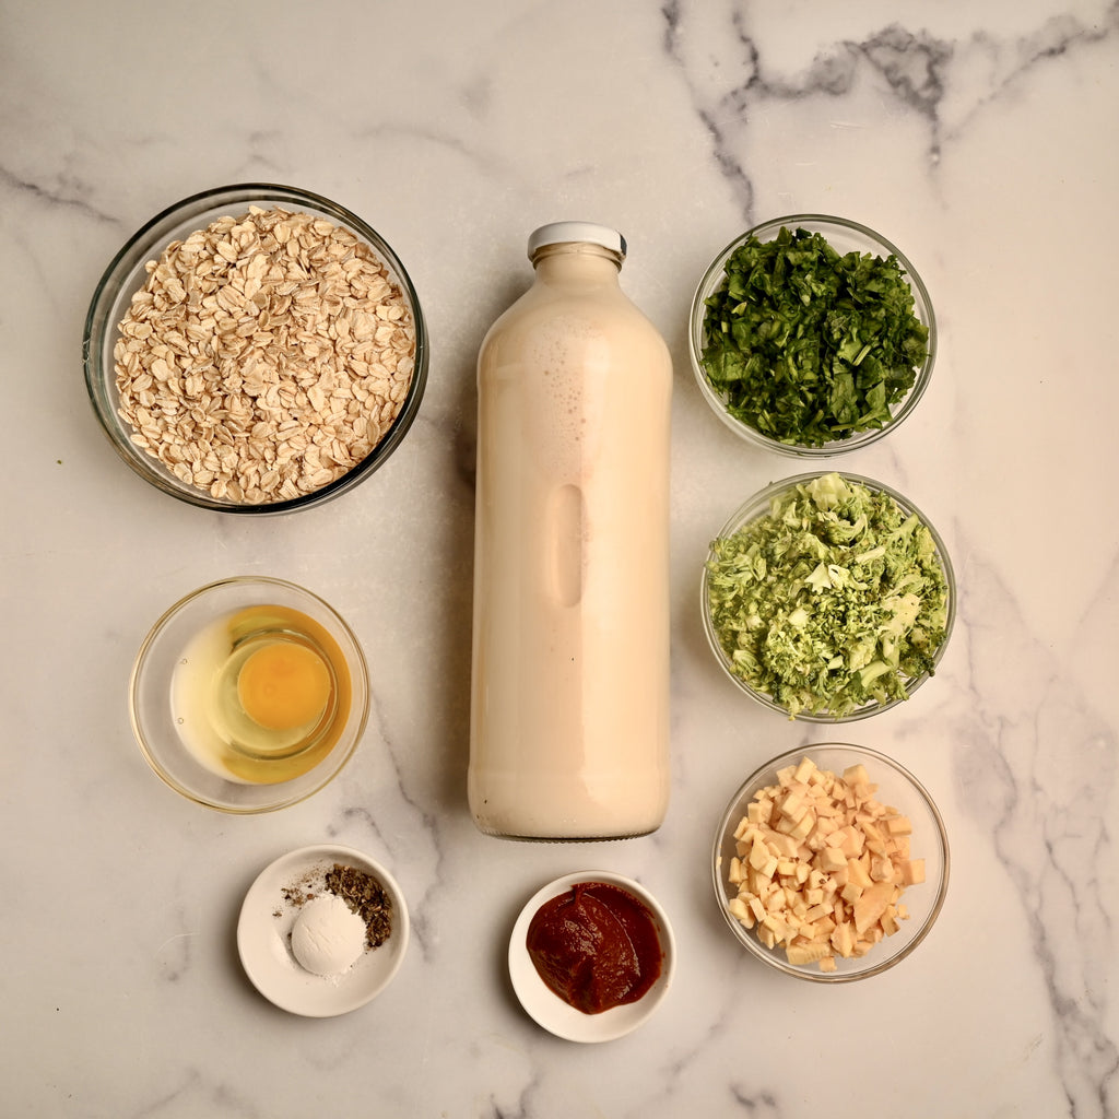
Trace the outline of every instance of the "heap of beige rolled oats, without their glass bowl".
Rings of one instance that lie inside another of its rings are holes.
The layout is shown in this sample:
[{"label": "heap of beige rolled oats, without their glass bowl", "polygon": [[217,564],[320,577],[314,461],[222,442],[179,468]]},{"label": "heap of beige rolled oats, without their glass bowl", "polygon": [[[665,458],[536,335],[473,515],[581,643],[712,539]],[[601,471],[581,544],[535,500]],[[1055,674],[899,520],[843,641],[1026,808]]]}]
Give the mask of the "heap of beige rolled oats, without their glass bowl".
[{"label": "heap of beige rolled oats, without their glass bowl", "polygon": [[119,412],[189,486],[311,493],[399,414],[415,323],[374,251],[325,218],[250,207],[169,244],[119,325]]}]

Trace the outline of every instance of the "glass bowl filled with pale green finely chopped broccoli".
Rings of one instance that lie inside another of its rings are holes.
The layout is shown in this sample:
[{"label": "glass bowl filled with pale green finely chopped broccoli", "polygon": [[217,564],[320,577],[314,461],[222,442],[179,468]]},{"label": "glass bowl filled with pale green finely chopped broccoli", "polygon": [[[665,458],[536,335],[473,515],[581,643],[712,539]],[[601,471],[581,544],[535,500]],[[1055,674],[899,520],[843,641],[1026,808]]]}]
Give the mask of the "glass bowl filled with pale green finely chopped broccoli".
[{"label": "glass bowl filled with pale green finely chopped broccoli", "polygon": [[846,723],[909,699],[956,619],[944,543],[882,482],[808,473],[746,501],[711,542],[704,627],[727,676],[788,718]]}]

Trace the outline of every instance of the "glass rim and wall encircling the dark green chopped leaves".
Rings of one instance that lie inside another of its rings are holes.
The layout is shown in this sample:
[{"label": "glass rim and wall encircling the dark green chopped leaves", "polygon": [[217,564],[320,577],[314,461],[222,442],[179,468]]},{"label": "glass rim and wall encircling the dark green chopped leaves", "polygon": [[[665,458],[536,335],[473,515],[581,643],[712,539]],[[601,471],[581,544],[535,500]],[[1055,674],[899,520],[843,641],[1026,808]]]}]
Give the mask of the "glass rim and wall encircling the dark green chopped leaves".
[{"label": "glass rim and wall encircling the dark green chopped leaves", "polygon": [[[702,356],[704,337],[703,325],[706,305],[705,301],[718,289],[723,279],[724,266],[730,255],[751,236],[756,236],[759,239],[762,239],[762,234],[775,234],[782,226],[797,228],[798,226],[808,225],[822,226],[825,229],[828,227],[838,227],[849,234],[855,234],[858,237],[869,241],[871,244],[876,246],[878,250],[885,250],[886,254],[895,256],[910,283],[910,288],[913,290],[915,313],[918,314],[918,318],[924,322],[929,330],[928,354],[918,367],[912,387],[899,402],[896,411],[892,412],[890,422],[884,424],[882,427],[859,432],[850,439],[831,440],[821,446],[808,446],[802,443],[782,443],[779,440],[758,431],[750,424],[732,416],[730,412],[726,411],[726,402],[720,397],[708,383],[704,373]],[[921,397],[924,396],[924,392],[929,387],[929,383],[932,379],[932,370],[937,361],[937,316],[932,305],[932,299],[929,295],[929,290],[925,286],[924,280],[916,269],[913,267],[909,257],[896,245],[894,245],[893,242],[888,241],[881,233],[877,233],[869,226],[863,225],[862,223],[855,222],[850,218],[836,217],[829,214],[789,214],[784,217],[770,218],[765,222],[760,222],[746,229],[745,233],[739,234],[716,254],[714,260],[704,271],[703,278],[696,285],[695,293],[692,297],[692,307],[688,312],[688,357],[692,364],[692,374],[695,377],[700,395],[718,419],[731,431],[735,432],[735,434],[753,443],[755,446],[762,446],[767,450],[775,451],[777,453],[789,458],[827,459],[839,454],[846,454],[850,451],[868,446],[869,444],[877,442],[880,439],[883,439],[891,432],[895,431],[914,412],[916,405],[921,401]]]}]

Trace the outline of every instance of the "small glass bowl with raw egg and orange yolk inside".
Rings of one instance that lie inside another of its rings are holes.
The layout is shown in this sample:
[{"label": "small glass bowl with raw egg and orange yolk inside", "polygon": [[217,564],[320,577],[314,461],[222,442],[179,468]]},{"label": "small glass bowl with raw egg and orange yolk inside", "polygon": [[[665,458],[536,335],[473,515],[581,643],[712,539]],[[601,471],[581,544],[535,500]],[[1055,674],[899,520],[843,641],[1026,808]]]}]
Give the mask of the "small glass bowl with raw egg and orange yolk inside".
[{"label": "small glass bowl with raw egg and orange yolk inside", "polygon": [[234,576],[175,603],[132,669],[132,728],[172,789],[227,812],[304,800],[368,718],[365,656],[338,612],[279,579]]}]

